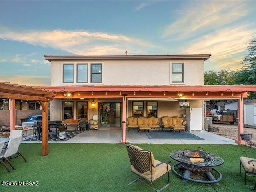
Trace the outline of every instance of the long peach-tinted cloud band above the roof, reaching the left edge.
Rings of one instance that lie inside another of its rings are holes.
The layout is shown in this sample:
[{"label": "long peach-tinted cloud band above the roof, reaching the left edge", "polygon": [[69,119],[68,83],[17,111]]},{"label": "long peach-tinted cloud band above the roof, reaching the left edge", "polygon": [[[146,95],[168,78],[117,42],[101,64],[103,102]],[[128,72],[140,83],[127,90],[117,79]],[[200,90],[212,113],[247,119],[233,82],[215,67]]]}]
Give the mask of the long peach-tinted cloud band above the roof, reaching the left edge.
[{"label": "long peach-tinted cloud band above the roof, reaching the left edge", "polygon": [[[88,32],[86,30],[52,30],[43,32],[4,30],[0,32],[0,38],[26,42],[34,46],[52,47],[77,55],[124,54],[126,50],[136,54],[143,52],[145,46],[148,48],[157,47],[136,38],[102,32]],[[16,60],[18,61],[18,56]]]}]

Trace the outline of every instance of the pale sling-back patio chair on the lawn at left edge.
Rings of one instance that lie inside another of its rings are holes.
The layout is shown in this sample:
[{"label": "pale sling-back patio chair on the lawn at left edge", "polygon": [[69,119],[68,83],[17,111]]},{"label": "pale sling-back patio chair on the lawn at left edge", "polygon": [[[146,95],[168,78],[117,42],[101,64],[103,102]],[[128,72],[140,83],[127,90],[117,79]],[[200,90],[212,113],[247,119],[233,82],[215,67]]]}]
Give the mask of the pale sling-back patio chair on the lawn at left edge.
[{"label": "pale sling-back patio chair on the lawn at left edge", "polygon": [[[22,158],[24,159],[25,162],[28,162],[24,156],[18,152],[18,148],[20,146],[20,141],[21,141],[22,136],[16,137],[16,138],[10,138],[7,148],[2,150],[1,154],[0,154],[0,160],[1,163],[4,164],[5,168],[7,169],[8,172],[10,172],[9,168],[6,166],[6,164],[4,163],[4,160],[6,160],[10,166],[12,166],[12,169],[15,170],[16,168],[13,166],[13,164],[10,162],[10,159],[12,158],[16,158],[18,156],[22,156]],[[17,154],[16,156],[13,156]]]}]

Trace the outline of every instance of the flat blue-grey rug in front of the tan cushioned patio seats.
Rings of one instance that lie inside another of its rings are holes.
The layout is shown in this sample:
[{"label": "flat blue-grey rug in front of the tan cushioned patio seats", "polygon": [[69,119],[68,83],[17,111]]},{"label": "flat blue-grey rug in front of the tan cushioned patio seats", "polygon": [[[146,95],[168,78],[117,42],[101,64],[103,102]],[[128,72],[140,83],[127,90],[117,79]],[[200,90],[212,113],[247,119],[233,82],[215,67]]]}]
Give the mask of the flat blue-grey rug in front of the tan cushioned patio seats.
[{"label": "flat blue-grey rug in front of the tan cushioned patio seats", "polygon": [[194,134],[191,134],[190,132],[185,131],[183,134],[183,131],[176,131],[174,132],[162,132],[162,131],[151,131],[151,134],[149,132],[145,132],[149,139],[195,139],[195,140],[203,140],[203,138],[200,138]]}]

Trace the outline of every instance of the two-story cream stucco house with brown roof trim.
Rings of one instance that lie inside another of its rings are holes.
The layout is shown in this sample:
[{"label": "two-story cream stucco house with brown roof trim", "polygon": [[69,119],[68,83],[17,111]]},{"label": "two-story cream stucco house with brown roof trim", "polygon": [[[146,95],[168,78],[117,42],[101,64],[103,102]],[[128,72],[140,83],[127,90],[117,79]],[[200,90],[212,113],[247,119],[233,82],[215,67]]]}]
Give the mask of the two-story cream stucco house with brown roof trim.
[{"label": "two-story cream stucco house with brown roof trim", "polygon": [[[98,116],[97,128],[123,129],[129,116],[181,116],[180,102],[200,108],[205,98],[246,97],[250,88],[204,86],[204,61],[211,54],[51,56],[51,120]],[[203,121],[198,125],[203,129]]]}]

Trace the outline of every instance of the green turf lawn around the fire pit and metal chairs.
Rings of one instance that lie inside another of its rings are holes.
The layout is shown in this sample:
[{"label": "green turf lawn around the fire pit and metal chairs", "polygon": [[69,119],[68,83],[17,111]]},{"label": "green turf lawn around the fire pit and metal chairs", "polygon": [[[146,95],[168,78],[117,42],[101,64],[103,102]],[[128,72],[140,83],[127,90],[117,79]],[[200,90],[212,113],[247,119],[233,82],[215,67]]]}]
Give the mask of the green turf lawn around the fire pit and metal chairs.
[{"label": "green turf lawn around the fire pit and metal chairs", "polygon": [[[216,154],[224,160],[217,169],[222,173],[219,185],[183,182],[173,172],[170,185],[163,192],[250,192],[244,185],[244,175],[239,173],[239,157],[243,150],[256,151],[239,145],[197,145],[197,144],[137,144],[148,149],[157,160],[170,159],[170,151],[197,149]],[[130,160],[123,144],[49,144],[49,155],[41,156],[41,144],[20,144],[19,151],[27,158],[12,159],[16,170],[8,173],[0,164],[0,181],[38,181],[39,186],[2,186],[4,192],[148,192],[153,191],[141,182],[127,186],[137,176],[130,171]],[[172,161],[172,165],[176,162]],[[167,176],[153,183],[161,188]],[[250,177],[248,184],[254,185]]]}]

